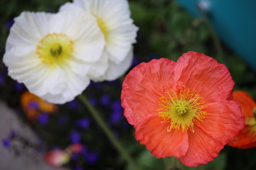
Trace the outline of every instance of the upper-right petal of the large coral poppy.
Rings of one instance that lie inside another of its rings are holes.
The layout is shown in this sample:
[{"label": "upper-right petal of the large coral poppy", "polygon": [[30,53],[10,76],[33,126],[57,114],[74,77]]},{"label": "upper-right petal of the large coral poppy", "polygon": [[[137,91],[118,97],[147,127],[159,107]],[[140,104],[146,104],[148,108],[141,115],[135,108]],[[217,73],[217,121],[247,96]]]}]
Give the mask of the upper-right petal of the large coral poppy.
[{"label": "upper-right petal of the large coral poppy", "polygon": [[177,61],[175,76],[174,81],[181,81],[191,90],[196,89],[206,102],[232,99],[235,83],[227,67],[202,53],[183,54]]}]

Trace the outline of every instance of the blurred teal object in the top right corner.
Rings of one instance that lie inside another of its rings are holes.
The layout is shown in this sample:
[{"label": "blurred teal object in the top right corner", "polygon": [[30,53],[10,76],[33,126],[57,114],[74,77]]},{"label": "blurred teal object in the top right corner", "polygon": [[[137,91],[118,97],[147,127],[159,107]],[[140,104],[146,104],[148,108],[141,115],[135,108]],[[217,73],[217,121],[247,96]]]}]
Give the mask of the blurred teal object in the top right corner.
[{"label": "blurred teal object in the top right corner", "polygon": [[206,16],[220,39],[256,71],[256,0],[176,0],[194,16]]}]

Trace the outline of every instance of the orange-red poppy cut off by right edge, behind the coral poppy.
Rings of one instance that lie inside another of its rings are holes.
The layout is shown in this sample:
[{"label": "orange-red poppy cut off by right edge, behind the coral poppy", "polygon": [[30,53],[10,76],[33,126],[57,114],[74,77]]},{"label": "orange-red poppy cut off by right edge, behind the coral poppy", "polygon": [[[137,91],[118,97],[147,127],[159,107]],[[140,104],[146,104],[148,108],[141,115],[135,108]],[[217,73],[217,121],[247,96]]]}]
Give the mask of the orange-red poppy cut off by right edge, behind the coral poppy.
[{"label": "orange-red poppy cut off by right edge, behind the coral poppy", "polygon": [[235,91],[233,100],[240,103],[245,116],[245,129],[228,142],[231,147],[247,149],[256,146],[256,103],[245,91]]}]

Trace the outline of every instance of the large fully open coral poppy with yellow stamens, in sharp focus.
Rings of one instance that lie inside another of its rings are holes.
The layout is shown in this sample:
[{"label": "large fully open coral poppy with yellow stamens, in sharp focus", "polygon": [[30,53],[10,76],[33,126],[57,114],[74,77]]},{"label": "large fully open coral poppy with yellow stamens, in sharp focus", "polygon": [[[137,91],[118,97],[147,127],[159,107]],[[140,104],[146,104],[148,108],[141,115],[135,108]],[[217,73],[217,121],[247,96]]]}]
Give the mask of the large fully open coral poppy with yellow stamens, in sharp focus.
[{"label": "large fully open coral poppy with yellow stamens, in sharp focus", "polygon": [[132,69],[122,85],[122,107],[151,154],[199,166],[244,128],[233,86],[225,65],[187,52],[177,62],[162,58]]}]

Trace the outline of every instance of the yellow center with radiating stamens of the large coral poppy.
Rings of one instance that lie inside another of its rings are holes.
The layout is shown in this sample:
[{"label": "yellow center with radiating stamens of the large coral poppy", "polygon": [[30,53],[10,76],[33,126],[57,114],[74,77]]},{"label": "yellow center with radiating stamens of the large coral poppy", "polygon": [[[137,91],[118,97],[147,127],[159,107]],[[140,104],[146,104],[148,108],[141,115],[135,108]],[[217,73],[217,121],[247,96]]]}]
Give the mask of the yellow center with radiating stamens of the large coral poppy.
[{"label": "yellow center with radiating stamens of the large coral poppy", "polygon": [[161,123],[169,123],[167,131],[171,129],[193,132],[195,122],[202,122],[205,118],[206,108],[203,98],[196,94],[196,91],[181,90],[176,93],[174,90],[166,91],[166,96],[159,98],[159,117]]}]

